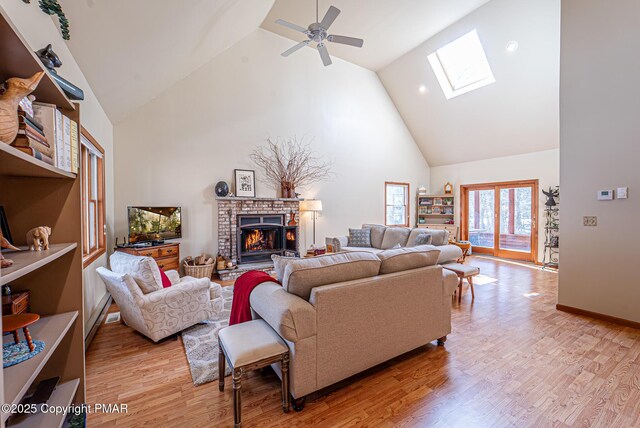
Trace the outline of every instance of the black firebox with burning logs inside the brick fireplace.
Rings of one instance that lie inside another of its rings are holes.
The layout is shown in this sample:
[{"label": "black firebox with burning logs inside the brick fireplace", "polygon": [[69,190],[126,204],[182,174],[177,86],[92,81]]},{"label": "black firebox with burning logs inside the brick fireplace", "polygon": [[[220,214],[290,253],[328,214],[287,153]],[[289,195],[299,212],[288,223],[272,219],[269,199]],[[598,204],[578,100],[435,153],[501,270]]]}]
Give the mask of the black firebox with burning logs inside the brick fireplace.
[{"label": "black firebox with burning logs inside the brick fireplace", "polygon": [[237,224],[238,264],[270,261],[298,248],[298,228],[286,226],[284,215],[239,215]]}]

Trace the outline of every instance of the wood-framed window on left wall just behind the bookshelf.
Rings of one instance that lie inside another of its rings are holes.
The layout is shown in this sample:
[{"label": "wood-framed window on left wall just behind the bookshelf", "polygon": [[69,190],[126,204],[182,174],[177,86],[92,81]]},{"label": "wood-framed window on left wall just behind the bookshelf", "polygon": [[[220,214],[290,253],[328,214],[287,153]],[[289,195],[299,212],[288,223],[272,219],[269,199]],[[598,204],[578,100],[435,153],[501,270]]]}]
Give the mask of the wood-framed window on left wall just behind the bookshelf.
[{"label": "wood-framed window on left wall just behind the bookshelf", "polygon": [[106,250],[104,206],[104,150],[82,128],[82,264],[87,267]]}]

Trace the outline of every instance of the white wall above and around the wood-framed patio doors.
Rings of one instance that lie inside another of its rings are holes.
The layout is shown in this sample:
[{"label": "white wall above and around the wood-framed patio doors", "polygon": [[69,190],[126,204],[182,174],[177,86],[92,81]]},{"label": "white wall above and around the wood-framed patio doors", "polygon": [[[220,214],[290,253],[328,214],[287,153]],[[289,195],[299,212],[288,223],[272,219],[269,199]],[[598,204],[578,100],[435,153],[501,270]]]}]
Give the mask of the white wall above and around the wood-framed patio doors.
[{"label": "white wall above and around the wood-framed patio doors", "polygon": [[[526,155],[505,156],[483,161],[456,163],[431,168],[431,193],[440,194],[451,182],[455,188],[455,219],[460,225],[460,185],[499,181],[539,180],[540,189],[560,183],[559,150],[545,150]],[[544,195],[539,195],[538,261],[544,256]]]}]

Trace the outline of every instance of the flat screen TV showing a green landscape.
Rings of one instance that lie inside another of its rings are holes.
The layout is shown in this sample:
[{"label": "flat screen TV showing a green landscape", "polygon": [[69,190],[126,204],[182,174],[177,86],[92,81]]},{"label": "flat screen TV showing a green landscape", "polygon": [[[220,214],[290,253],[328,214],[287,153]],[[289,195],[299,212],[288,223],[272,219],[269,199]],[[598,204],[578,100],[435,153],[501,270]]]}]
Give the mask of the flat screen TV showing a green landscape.
[{"label": "flat screen TV showing a green landscape", "polygon": [[180,207],[129,207],[129,242],[182,237]]}]

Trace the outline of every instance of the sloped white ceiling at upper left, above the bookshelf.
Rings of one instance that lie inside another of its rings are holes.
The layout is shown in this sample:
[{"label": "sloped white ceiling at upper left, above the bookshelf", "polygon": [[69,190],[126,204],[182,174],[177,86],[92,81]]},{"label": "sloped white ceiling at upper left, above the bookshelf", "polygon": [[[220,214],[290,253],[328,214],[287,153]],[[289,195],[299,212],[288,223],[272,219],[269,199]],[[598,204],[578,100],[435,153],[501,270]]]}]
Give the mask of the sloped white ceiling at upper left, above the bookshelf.
[{"label": "sloped white ceiling at upper left, above the bookshelf", "polygon": [[[60,4],[71,26],[67,44],[107,115],[117,123],[254,31],[273,0]],[[60,74],[64,76],[64,66]]]}]

